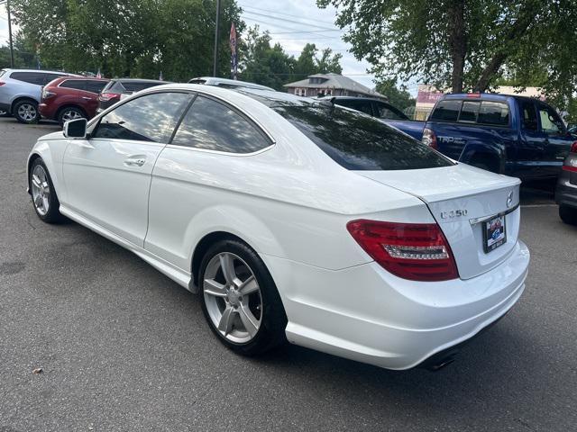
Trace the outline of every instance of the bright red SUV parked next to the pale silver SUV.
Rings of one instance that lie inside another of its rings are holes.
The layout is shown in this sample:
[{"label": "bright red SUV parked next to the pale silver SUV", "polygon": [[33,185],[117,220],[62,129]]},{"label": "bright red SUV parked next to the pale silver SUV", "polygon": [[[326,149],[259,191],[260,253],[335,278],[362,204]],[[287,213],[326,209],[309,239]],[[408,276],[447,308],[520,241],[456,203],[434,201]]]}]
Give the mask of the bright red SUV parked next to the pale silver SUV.
[{"label": "bright red SUV parked next to the pale silver SUV", "polygon": [[40,114],[60,125],[74,119],[91,119],[98,108],[98,94],[108,79],[62,76],[42,89]]}]

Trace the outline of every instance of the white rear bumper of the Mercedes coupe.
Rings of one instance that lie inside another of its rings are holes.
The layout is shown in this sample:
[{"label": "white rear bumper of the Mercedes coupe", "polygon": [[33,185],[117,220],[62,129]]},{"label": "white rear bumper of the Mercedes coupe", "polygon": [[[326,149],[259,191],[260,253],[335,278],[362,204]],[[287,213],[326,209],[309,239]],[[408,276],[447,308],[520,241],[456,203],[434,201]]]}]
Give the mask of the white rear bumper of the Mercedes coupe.
[{"label": "white rear bumper of the Mercedes coupe", "polygon": [[529,252],[519,241],[489,272],[443,283],[400,279],[374,262],[335,272],[263,259],[287,311],[290,342],[402,370],[463,343],[507,313],[525,289]]}]

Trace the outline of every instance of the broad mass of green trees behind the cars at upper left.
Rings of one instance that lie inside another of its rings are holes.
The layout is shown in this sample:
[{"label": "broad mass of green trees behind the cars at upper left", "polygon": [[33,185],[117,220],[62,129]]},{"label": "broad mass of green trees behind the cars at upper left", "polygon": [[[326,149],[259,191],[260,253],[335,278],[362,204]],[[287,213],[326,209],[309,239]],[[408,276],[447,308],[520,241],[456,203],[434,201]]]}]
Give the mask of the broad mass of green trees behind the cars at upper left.
[{"label": "broad mass of green trees behind the cars at upper left", "polygon": [[[215,0],[12,0],[14,19],[43,67],[105,76],[187,80],[212,75]],[[234,0],[221,2],[219,76],[229,76],[228,32],[243,31]]]}]

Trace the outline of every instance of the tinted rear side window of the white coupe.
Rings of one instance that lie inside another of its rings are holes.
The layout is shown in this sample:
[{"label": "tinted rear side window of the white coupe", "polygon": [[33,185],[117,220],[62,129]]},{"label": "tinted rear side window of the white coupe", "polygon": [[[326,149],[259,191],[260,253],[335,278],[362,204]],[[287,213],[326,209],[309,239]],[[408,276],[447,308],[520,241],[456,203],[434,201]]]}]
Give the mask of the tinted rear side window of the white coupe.
[{"label": "tinted rear side window of the white coupe", "polygon": [[251,121],[203,96],[192,104],[171,143],[228,153],[252,153],[270,146]]}]

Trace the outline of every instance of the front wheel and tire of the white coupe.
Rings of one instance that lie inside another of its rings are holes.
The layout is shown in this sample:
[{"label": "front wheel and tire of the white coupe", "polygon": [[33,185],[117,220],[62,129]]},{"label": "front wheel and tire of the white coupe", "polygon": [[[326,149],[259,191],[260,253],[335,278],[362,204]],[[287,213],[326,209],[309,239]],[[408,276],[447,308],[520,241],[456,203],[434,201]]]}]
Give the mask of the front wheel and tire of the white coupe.
[{"label": "front wheel and tire of the white coupe", "polygon": [[47,223],[58,223],[64,220],[60,214],[60,201],[54,184],[41,157],[32,162],[28,178],[32,206],[38,217]]}]

